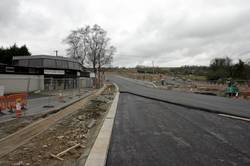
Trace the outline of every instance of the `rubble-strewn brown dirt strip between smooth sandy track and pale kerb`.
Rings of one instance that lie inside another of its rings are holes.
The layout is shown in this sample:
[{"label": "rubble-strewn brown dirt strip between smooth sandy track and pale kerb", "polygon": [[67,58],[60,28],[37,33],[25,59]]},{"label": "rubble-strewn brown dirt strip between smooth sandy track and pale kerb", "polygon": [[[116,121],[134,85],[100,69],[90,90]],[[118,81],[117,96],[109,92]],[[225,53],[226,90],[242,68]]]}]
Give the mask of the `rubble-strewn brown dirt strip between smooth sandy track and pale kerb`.
[{"label": "rubble-strewn brown dirt strip between smooth sandy track and pale kerb", "polygon": [[[83,163],[112,103],[114,91],[115,87],[108,85],[100,96],[75,114],[61,119],[42,134],[2,157],[0,165],[66,166]],[[79,146],[59,157],[53,157],[74,145]]]}]

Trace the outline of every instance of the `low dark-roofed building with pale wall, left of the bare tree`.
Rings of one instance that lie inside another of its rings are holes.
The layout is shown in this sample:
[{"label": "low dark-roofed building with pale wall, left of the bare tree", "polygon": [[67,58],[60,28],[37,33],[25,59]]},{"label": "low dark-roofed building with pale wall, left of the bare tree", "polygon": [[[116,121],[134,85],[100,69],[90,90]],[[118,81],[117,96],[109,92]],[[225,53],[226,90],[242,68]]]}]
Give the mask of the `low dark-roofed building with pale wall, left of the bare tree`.
[{"label": "low dark-roofed building with pale wall, left of the bare tree", "polygon": [[[0,65],[1,83],[6,89],[14,89],[8,90],[11,93],[16,89],[13,88],[14,85],[24,90],[26,90],[25,86],[34,87],[30,90],[26,87],[27,91],[78,88],[81,84],[87,86],[83,81],[89,76],[90,72],[78,61],[60,56],[14,56],[13,65]],[[25,85],[27,80],[31,80],[32,84]],[[92,85],[88,84],[88,86]]]}]

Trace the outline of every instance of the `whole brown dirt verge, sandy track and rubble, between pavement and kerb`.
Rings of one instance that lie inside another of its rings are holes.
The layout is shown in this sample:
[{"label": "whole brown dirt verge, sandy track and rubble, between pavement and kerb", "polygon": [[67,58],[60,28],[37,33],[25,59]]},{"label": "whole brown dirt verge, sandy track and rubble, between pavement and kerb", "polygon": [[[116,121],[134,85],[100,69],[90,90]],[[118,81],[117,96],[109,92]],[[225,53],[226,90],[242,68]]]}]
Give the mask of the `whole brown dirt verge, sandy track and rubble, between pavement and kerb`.
[{"label": "whole brown dirt verge, sandy track and rubble, between pavement and kerb", "polygon": [[[115,92],[114,85],[105,84],[69,106],[33,115],[24,108],[20,115],[2,120],[0,165],[85,163]],[[27,106],[27,100],[21,102]]]}]

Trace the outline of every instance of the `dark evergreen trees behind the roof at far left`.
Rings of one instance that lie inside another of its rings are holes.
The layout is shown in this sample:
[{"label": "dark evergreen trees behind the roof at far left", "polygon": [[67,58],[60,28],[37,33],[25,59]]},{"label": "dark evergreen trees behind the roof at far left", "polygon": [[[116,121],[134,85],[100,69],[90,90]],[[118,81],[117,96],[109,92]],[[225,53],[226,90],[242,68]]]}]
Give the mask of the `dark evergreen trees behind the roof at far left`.
[{"label": "dark evergreen trees behind the roof at far left", "polygon": [[30,56],[31,53],[26,45],[18,47],[17,44],[14,44],[10,47],[0,47],[0,63],[3,64],[12,64],[13,56]]}]

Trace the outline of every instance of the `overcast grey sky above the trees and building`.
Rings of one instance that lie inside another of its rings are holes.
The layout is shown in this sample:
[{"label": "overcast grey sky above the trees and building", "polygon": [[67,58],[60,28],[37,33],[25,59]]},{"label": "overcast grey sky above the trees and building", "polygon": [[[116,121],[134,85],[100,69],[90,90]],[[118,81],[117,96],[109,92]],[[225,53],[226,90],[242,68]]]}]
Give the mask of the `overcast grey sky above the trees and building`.
[{"label": "overcast grey sky above the trees and building", "polygon": [[117,48],[112,66],[209,65],[250,59],[249,0],[1,0],[0,46],[66,56],[71,30],[98,24]]}]

